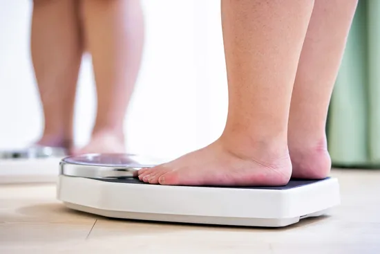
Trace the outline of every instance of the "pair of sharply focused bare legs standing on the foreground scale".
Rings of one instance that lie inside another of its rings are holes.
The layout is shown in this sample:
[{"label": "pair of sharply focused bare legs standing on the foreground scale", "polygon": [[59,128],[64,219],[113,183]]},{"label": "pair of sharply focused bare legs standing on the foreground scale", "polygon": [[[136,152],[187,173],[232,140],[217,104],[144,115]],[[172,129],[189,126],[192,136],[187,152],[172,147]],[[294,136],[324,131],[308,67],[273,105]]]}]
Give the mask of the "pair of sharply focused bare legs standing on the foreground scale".
[{"label": "pair of sharply focused bare legs standing on the foreground scale", "polygon": [[330,174],[325,123],[357,0],[222,0],[229,89],[215,142],[138,178],[162,185],[285,185]]}]

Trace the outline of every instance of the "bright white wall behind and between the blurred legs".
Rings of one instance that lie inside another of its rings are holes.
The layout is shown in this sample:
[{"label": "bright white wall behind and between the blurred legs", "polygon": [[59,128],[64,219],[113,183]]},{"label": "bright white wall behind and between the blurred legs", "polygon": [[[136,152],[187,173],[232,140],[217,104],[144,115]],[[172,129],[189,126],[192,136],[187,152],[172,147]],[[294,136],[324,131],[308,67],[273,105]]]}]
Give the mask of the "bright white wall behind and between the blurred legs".
[{"label": "bright white wall behind and between the blurred legs", "polygon": [[[126,115],[129,152],[174,158],[218,138],[227,116],[219,0],[144,0],[146,44]],[[29,52],[32,1],[0,1],[0,149],[39,138],[43,118]],[[91,60],[79,78],[75,137],[95,116]]]}]

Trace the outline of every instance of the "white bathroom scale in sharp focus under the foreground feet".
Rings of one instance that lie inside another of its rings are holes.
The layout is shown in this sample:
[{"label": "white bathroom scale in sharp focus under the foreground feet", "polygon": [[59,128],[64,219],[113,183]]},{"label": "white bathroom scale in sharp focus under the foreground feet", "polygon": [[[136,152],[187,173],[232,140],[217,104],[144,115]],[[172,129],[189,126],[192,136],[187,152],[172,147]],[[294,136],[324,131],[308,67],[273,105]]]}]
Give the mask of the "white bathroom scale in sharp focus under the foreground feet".
[{"label": "white bathroom scale in sharp focus under the foreground feet", "polygon": [[189,224],[283,227],[339,205],[339,182],[292,179],[279,187],[153,185],[135,178],[157,165],[133,154],[61,160],[57,199],[103,217]]}]

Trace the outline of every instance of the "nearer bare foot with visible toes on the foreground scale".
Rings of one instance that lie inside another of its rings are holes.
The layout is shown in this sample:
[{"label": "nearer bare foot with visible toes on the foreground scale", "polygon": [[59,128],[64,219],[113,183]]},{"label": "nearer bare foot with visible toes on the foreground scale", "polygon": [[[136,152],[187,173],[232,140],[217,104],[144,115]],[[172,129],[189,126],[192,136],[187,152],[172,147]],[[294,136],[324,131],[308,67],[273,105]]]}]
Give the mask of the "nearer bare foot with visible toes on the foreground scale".
[{"label": "nearer bare foot with visible toes on the foreground scale", "polygon": [[245,156],[217,140],[169,163],[142,169],[138,177],[162,185],[286,185],[292,174],[287,151],[256,158],[254,152]]}]

